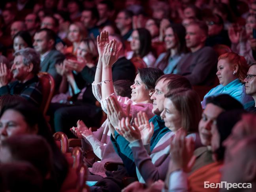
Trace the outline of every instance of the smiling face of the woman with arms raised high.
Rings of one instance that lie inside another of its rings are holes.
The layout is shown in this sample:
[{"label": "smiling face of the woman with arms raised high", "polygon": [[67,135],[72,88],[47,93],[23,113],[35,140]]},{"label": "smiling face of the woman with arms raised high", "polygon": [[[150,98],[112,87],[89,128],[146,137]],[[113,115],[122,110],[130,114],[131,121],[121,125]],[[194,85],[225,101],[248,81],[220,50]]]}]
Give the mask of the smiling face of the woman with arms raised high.
[{"label": "smiling face of the woman with arms raised high", "polygon": [[146,89],[146,85],[141,81],[139,74],[136,75],[134,79],[134,84],[131,85],[132,94],[131,100],[136,103],[149,103],[150,96],[149,90]]}]

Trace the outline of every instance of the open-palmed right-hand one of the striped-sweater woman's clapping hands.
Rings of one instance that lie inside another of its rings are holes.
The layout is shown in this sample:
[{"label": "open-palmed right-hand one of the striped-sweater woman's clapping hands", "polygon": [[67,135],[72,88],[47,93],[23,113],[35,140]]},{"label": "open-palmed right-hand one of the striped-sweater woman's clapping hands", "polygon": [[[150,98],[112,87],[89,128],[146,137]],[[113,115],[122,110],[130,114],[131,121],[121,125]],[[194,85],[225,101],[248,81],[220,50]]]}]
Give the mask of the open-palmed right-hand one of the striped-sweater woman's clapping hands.
[{"label": "open-palmed right-hand one of the striped-sweater woman's clapping hands", "polygon": [[149,144],[154,133],[153,123],[149,123],[146,113],[141,111],[137,114],[137,118],[134,119],[134,122],[141,133],[143,145]]}]

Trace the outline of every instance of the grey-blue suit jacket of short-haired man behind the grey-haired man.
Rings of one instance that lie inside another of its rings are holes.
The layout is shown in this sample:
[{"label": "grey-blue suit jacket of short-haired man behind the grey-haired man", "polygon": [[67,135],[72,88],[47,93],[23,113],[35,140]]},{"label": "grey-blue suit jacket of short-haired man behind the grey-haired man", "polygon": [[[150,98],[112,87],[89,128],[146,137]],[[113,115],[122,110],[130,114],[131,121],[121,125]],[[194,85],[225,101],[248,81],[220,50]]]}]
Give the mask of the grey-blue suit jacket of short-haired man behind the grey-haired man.
[{"label": "grey-blue suit jacket of short-haired man behind the grey-haired man", "polygon": [[62,53],[53,49],[40,64],[41,72],[47,72],[53,76],[56,87],[60,85],[61,76],[56,72],[55,64],[60,64],[64,59],[65,56]]}]

